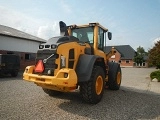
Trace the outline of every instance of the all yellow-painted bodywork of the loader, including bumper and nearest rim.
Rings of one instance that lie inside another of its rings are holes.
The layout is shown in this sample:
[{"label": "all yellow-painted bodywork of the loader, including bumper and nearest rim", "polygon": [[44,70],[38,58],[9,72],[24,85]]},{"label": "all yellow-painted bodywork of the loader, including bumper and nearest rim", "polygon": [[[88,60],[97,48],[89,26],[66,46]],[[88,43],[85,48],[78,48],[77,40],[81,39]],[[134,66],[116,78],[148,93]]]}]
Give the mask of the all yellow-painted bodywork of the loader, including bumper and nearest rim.
[{"label": "all yellow-painted bodywork of the loader, including bumper and nearest rim", "polygon": [[[94,26],[94,54],[101,56],[104,58],[105,64],[107,63],[110,56],[114,54],[115,49],[112,48],[111,52],[106,54],[103,51],[98,49],[98,30],[99,27],[105,30],[106,32],[108,29],[101,26],[99,23],[95,23]],[[77,26],[78,28],[81,27],[88,27],[88,25],[81,25]],[[68,28],[68,33],[71,35],[71,29]],[[77,42],[69,42],[65,44],[61,44],[57,48],[57,54],[59,57],[55,60],[55,64],[58,65],[58,68],[54,70],[55,76],[47,76],[47,75],[38,75],[34,74],[35,66],[28,66],[26,67],[24,73],[23,73],[23,79],[26,81],[34,82],[38,86],[41,86],[43,88],[57,90],[57,91],[72,91],[77,88],[77,74],[75,72],[76,65],[79,59],[79,56],[81,54],[84,54],[84,50],[86,47],[90,48],[91,46],[88,43],[84,43],[85,45],[79,45]],[[64,49],[65,48],[65,49]],[[69,59],[69,50],[74,49],[74,59]],[[61,57],[64,56],[66,58],[66,67],[64,69],[60,68],[61,63]],[[68,68],[68,61],[74,61],[73,69]],[[108,68],[106,68],[108,70]],[[68,77],[64,78],[64,73],[68,73]],[[108,81],[108,76],[105,78],[106,81]],[[97,94],[101,93],[102,90],[102,78],[98,77],[96,82],[96,92]]]}]

